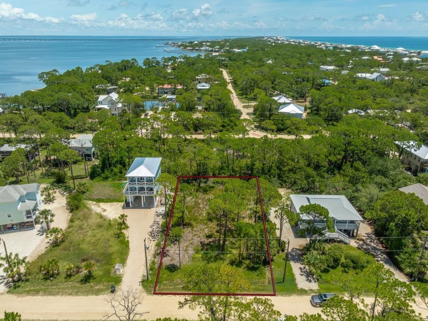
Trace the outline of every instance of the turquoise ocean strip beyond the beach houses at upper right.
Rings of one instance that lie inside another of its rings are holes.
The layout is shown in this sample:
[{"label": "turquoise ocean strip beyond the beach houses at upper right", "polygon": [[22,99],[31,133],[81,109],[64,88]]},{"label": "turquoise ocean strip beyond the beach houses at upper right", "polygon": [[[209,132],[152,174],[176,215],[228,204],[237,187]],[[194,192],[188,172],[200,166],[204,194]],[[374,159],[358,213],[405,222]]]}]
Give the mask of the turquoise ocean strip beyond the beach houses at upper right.
[{"label": "turquoise ocean strip beyond the beach houses at upper right", "polygon": [[336,44],[353,44],[395,49],[403,47],[406,50],[428,50],[428,37],[288,37],[288,39],[301,39],[309,41],[330,42]]}]

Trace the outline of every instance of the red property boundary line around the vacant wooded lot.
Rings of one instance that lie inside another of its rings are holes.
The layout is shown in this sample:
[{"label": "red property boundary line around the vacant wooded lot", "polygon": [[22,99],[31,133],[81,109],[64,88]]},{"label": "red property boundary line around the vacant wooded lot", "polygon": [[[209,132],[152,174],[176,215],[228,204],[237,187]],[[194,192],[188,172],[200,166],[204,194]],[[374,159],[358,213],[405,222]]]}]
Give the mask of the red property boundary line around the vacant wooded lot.
[{"label": "red property boundary line around the vacant wooded lot", "polygon": [[[189,292],[159,292],[156,291],[157,289],[157,283],[159,282],[159,275],[161,274],[161,268],[162,268],[162,261],[164,259],[165,254],[165,248],[167,245],[167,239],[168,239],[168,233],[171,227],[171,219],[172,219],[172,213],[174,211],[175,207],[175,200],[177,197],[177,191],[178,191],[178,185],[180,184],[181,179],[191,178],[191,179],[208,179],[208,178],[218,178],[218,179],[229,179],[229,178],[238,178],[238,179],[256,179],[257,180],[257,189],[259,193],[259,200],[260,200],[260,208],[261,208],[261,217],[263,219],[263,227],[264,227],[264,238],[266,240],[266,248],[268,248],[268,258],[269,258],[269,267],[271,270],[271,282],[272,282],[272,288],[273,293],[189,293]],[[174,192],[174,199],[172,201],[171,206],[171,212],[170,217],[168,220],[168,227],[167,232],[165,235],[165,241],[164,246],[162,248],[162,255],[161,255],[161,261],[159,261],[159,267],[157,269],[157,275],[156,275],[156,282],[154,284],[153,294],[162,294],[162,295],[229,295],[229,296],[260,296],[260,297],[276,297],[276,289],[275,289],[275,280],[274,280],[274,272],[272,269],[272,262],[271,262],[271,252],[269,250],[269,240],[268,240],[268,232],[266,231],[266,220],[264,219],[264,210],[263,210],[263,203],[261,200],[261,189],[260,189],[260,181],[258,176],[179,176],[177,179],[177,185],[175,186],[175,192]]]}]

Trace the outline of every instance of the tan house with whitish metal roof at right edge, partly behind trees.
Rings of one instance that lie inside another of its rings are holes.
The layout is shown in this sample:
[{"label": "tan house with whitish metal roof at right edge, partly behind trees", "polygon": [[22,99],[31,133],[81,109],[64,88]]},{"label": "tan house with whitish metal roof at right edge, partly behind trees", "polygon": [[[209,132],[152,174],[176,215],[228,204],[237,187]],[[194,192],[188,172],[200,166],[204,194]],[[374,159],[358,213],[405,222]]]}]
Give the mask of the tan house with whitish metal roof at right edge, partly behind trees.
[{"label": "tan house with whitish metal roof at right edge, partly behind trees", "polygon": [[395,144],[398,146],[399,154],[403,156],[402,163],[409,165],[412,172],[428,171],[428,146],[418,145],[415,141],[396,141]]}]

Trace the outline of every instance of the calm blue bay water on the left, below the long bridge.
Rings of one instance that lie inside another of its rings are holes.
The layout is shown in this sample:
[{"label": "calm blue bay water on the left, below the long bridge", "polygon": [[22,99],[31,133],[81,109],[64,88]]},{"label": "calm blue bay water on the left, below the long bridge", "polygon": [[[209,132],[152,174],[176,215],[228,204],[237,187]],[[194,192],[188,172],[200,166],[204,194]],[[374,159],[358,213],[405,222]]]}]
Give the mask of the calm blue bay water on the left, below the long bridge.
[{"label": "calm blue bay water on the left, below the long bridge", "polygon": [[[232,37],[0,36],[0,93],[11,96],[43,87],[37,78],[42,71],[57,69],[64,72],[77,66],[85,70],[95,64],[104,64],[106,60],[117,62],[135,58],[142,64],[146,58],[194,56],[198,53],[175,49],[165,43],[221,38]],[[170,51],[164,51],[165,48]]]}]

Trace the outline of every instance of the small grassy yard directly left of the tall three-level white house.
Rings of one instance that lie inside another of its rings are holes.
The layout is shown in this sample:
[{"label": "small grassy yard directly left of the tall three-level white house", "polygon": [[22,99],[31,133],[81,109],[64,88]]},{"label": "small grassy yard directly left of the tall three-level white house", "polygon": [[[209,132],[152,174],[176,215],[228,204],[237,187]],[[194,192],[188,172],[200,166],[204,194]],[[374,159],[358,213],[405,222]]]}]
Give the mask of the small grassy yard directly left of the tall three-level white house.
[{"label": "small grassy yard directly left of the tall three-level white house", "polygon": [[88,183],[89,191],[85,199],[98,203],[121,203],[123,202],[123,182],[104,182],[82,180]]}]

